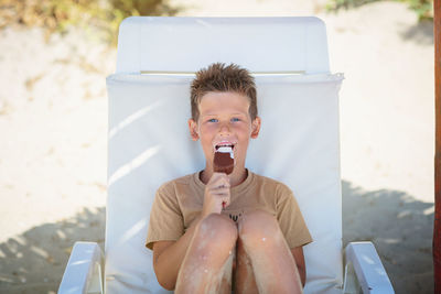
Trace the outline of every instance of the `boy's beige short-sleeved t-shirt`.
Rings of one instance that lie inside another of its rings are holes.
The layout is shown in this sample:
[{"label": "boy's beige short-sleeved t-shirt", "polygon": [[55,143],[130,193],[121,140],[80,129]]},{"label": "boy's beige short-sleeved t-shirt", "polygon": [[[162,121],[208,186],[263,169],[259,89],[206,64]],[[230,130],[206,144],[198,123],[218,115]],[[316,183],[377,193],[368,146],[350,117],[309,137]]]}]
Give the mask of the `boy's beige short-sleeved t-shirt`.
[{"label": "boy's beige short-sleeved t-shirt", "polygon": [[[150,213],[146,247],[157,241],[176,241],[201,214],[205,184],[200,173],[179,177],[163,184],[157,192]],[[248,171],[240,185],[230,189],[230,205],[222,214],[237,221],[240,216],[255,209],[273,215],[289,248],[312,241],[292,192],[284,184]]]}]

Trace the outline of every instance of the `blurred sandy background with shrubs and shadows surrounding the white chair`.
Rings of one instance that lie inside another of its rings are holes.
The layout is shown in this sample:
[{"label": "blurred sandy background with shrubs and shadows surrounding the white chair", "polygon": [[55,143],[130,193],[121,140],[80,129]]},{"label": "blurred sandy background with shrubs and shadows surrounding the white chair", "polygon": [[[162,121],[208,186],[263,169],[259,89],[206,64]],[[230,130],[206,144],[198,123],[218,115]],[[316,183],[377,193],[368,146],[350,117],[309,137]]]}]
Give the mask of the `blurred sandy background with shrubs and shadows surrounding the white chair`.
[{"label": "blurred sandy background with shrubs and shadows surrounding the white chair", "polygon": [[0,0],[0,293],[56,293],[73,243],[104,246],[105,78],[129,15],[324,20],[344,243],[373,241],[397,293],[433,293],[429,0]]}]

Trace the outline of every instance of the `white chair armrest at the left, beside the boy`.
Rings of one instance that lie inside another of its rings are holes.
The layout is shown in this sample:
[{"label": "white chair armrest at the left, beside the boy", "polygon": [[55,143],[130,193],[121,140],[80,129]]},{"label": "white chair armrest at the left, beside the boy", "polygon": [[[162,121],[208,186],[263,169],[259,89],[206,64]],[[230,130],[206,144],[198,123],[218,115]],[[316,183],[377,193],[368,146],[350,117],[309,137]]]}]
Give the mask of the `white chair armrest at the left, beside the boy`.
[{"label": "white chair armrest at the left, beside the boy", "polygon": [[103,294],[103,253],[95,242],[75,242],[58,294]]}]

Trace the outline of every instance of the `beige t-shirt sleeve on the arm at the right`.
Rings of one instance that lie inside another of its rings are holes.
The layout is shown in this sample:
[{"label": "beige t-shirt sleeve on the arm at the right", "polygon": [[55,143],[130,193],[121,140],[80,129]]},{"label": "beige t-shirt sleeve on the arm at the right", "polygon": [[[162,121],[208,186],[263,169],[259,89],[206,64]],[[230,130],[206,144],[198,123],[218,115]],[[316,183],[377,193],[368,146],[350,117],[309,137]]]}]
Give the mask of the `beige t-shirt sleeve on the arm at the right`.
[{"label": "beige t-shirt sleeve on the arm at the right", "polygon": [[291,189],[281,185],[278,189],[277,219],[290,249],[312,242],[311,233]]}]

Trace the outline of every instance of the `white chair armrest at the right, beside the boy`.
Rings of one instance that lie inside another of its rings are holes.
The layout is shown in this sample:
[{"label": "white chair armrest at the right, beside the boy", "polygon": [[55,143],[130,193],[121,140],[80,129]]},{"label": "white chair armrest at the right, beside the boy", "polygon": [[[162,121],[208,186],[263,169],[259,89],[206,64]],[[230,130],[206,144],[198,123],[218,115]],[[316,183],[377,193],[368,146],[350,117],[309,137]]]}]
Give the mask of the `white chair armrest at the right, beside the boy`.
[{"label": "white chair armrest at the right, beside the boy", "polygon": [[372,242],[351,242],[345,249],[344,293],[392,294],[394,287]]}]

